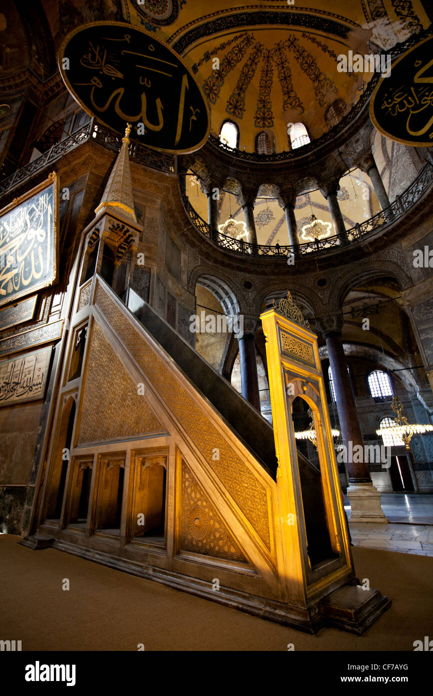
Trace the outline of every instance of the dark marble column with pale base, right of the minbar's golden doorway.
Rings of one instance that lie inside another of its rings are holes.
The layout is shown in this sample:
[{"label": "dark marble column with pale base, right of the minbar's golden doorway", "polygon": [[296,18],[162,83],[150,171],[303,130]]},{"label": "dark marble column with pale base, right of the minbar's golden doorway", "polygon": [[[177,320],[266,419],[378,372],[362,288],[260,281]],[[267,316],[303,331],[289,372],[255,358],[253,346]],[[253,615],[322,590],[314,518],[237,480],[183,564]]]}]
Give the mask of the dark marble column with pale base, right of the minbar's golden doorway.
[{"label": "dark marble column with pale base, right of the minbar's golden doorway", "polygon": [[[329,364],[334,380],[334,390],[338,420],[340,421],[341,436],[345,452],[347,454],[346,467],[348,470],[349,486],[348,498],[351,506],[351,522],[381,522],[388,520],[380,507],[379,491],[373,486],[370,478],[368,463],[364,457],[364,446],[359,425],[357,408],[352,392],[352,385],[348,373],[348,363],[345,359],[341,329],[343,318],[329,316],[325,319],[316,318],[316,322],[326,340]],[[357,449],[357,445],[361,450]],[[359,452],[362,452],[359,457]],[[355,457],[354,457],[355,454]],[[361,461],[353,461],[353,459]]]}]

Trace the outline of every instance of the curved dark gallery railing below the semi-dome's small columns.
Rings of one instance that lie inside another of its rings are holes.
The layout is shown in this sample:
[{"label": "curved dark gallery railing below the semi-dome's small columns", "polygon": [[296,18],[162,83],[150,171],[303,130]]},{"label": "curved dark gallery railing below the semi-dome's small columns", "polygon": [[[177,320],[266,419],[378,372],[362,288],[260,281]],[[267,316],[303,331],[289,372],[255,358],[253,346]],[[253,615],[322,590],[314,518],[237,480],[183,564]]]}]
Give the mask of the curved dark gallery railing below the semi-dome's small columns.
[{"label": "curved dark gallery railing below the semi-dome's small columns", "polygon": [[243,239],[234,239],[222,235],[218,230],[211,228],[208,223],[195,211],[190,204],[186,191],[183,185],[180,185],[183,205],[188,213],[191,222],[202,232],[205,237],[220,246],[238,254],[260,255],[260,256],[282,256],[287,257],[289,253],[295,255],[304,255],[311,252],[327,252],[332,248],[341,248],[348,244],[361,242],[367,237],[373,236],[379,230],[384,230],[391,223],[398,221],[409,208],[413,207],[427,191],[430,190],[433,184],[433,164],[427,161],[423,169],[420,170],[416,179],[407,187],[407,189],[395,198],[391,205],[373,215],[368,220],[357,223],[350,230],[346,230],[345,235],[334,235],[325,239],[314,239],[312,242],[304,242],[297,246],[284,245],[270,246],[269,244],[251,244]]}]

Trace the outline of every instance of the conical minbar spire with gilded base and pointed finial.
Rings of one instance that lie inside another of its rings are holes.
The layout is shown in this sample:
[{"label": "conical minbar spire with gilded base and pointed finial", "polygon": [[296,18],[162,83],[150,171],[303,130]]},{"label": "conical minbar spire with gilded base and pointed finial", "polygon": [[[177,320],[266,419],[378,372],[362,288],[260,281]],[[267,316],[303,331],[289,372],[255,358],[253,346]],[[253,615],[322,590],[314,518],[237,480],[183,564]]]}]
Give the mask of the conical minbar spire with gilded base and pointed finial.
[{"label": "conical minbar spire with gilded base and pointed finial", "polygon": [[124,138],[122,138],[122,147],[111,170],[101,203],[95,208],[95,213],[117,214],[126,221],[136,223],[128,151],[130,132],[131,124],[127,123]]}]

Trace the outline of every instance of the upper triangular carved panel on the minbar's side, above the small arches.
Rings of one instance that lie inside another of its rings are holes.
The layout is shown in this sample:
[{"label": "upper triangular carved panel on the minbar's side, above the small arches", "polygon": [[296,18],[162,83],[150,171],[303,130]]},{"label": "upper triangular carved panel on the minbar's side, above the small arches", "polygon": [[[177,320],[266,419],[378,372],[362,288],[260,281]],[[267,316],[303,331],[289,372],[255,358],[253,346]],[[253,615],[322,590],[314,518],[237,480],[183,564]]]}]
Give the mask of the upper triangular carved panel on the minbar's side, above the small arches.
[{"label": "upper triangular carved panel on the minbar's side, above the small arches", "polygon": [[95,322],[78,444],[166,432]]}]

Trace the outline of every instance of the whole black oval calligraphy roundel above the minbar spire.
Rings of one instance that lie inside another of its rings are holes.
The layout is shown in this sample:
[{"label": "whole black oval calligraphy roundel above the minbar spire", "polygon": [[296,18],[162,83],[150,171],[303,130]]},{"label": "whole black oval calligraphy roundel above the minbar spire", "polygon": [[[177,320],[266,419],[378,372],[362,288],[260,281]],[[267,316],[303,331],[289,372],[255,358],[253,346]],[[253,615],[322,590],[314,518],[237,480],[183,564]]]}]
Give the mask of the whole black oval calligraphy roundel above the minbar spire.
[{"label": "whole black oval calligraphy roundel above the minbar spire", "polygon": [[194,152],[211,129],[209,106],[180,56],[124,22],[74,29],[59,49],[60,74],[99,122],[163,152]]}]

